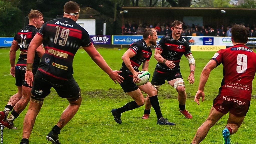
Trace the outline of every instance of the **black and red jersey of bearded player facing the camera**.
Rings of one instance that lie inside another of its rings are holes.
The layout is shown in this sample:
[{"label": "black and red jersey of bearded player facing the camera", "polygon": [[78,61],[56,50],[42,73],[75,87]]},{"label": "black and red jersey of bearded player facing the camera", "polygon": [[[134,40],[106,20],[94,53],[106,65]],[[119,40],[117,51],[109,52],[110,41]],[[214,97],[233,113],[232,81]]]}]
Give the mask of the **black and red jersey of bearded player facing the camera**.
[{"label": "black and red jersey of bearded player facing the camera", "polygon": [[170,69],[165,64],[157,63],[156,70],[160,72],[179,70],[179,62],[181,57],[183,55],[188,56],[191,54],[188,42],[182,36],[180,36],[178,40],[175,40],[172,37],[172,34],[163,36],[157,44],[156,49],[162,52],[161,56],[164,59],[174,61],[175,64],[175,67]]}]

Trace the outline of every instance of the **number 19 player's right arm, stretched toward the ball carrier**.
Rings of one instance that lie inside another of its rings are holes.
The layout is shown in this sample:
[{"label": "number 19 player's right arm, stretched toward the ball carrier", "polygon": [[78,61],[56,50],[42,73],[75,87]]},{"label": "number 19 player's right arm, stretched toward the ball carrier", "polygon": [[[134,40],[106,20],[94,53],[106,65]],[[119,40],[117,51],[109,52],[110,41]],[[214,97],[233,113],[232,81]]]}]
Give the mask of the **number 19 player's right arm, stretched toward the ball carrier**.
[{"label": "number 19 player's right arm, stretched toward the ball carrier", "polygon": [[120,70],[112,70],[93,45],[90,45],[88,47],[83,47],[83,49],[89,54],[89,56],[92,58],[92,60],[106,74],[109,75],[109,77],[115,82],[115,84],[116,84],[116,81],[118,83],[122,83],[123,82],[124,78],[118,74],[118,73],[121,73],[122,71],[120,71]]}]

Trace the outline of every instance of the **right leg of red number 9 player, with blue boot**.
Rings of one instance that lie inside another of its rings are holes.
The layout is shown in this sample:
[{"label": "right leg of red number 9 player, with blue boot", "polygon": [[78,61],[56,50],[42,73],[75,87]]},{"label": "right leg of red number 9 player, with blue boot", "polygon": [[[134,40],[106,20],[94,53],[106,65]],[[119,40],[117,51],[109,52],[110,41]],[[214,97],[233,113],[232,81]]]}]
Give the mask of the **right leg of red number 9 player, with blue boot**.
[{"label": "right leg of red number 9 player, with blue boot", "polygon": [[228,124],[222,131],[223,143],[229,144],[231,143],[230,135],[237,132],[238,128],[241,126],[244,117],[237,117],[229,112]]}]

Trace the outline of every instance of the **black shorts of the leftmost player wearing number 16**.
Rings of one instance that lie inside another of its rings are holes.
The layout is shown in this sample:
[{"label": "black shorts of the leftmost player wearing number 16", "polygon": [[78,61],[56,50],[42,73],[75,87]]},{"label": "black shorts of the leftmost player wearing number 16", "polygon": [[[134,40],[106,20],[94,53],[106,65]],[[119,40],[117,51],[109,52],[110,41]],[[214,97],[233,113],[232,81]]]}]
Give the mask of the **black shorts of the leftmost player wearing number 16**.
[{"label": "black shorts of the leftmost player wearing number 16", "polygon": [[[15,85],[16,86],[30,87],[25,81],[26,69],[27,69],[26,66],[15,66]],[[37,68],[32,70],[34,77],[35,77],[36,71],[37,71]]]}]

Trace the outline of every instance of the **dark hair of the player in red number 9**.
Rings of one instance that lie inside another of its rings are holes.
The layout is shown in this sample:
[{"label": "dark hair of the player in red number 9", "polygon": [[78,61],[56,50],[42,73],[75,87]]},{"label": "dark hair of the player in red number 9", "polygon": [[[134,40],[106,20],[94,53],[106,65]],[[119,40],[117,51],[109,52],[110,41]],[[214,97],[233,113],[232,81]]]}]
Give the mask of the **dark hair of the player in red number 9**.
[{"label": "dark hair of the player in red number 9", "polygon": [[243,25],[233,25],[231,30],[232,39],[236,43],[247,43],[249,37],[249,30]]}]

